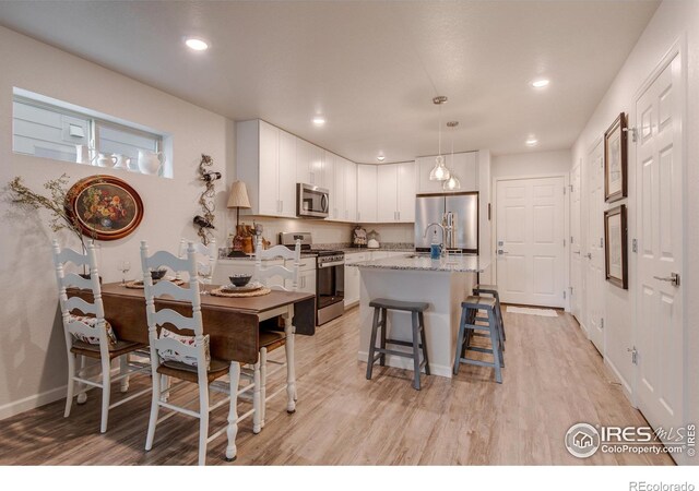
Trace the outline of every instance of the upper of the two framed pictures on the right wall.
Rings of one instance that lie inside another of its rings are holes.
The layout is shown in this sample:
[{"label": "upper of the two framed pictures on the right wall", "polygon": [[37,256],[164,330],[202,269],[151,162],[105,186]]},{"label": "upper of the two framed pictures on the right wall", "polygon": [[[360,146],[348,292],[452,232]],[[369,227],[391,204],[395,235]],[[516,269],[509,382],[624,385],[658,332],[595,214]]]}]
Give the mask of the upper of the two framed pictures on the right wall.
[{"label": "upper of the two framed pictures on the right wall", "polygon": [[604,133],[604,201],[626,197],[626,115],[621,112]]}]

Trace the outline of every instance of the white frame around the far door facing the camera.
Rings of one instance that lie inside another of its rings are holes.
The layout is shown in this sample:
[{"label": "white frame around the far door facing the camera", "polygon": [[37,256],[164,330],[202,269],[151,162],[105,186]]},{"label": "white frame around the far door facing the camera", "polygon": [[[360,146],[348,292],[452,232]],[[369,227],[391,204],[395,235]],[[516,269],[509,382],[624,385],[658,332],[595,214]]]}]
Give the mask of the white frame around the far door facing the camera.
[{"label": "white frame around the far door facing the camera", "polygon": [[529,179],[547,179],[564,178],[564,239],[566,247],[564,251],[564,288],[566,289],[566,301],[564,302],[565,311],[570,312],[570,171],[559,173],[533,173],[528,176],[498,176],[493,178],[491,203],[493,206],[493,225],[490,227],[490,247],[493,248],[493,282],[497,283],[498,261],[497,261],[497,230],[498,230],[498,182],[500,181],[521,181]]}]

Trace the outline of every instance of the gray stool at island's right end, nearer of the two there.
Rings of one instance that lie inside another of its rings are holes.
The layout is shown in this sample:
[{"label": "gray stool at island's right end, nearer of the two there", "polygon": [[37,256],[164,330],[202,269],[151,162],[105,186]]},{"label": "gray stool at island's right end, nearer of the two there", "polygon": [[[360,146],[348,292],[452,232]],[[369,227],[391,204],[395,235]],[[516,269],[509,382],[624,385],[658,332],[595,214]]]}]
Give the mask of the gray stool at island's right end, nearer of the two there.
[{"label": "gray stool at island's right end, nearer of the two there", "polygon": [[[478,316],[479,310],[486,311],[488,316]],[[495,369],[495,379],[499,384],[502,383],[502,373],[500,370],[501,367],[505,367],[502,359],[502,340],[495,312],[496,300],[493,297],[469,297],[461,303],[461,323],[459,325],[457,355],[454,357],[454,375],[459,373],[459,366],[461,363],[491,367]],[[477,324],[477,322],[487,322],[487,324]],[[491,349],[471,346],[471,334],[473,334],[474,331],[486,331],[489,334]],[[493,362],[466,358],[467,351],[491,354]]]}]

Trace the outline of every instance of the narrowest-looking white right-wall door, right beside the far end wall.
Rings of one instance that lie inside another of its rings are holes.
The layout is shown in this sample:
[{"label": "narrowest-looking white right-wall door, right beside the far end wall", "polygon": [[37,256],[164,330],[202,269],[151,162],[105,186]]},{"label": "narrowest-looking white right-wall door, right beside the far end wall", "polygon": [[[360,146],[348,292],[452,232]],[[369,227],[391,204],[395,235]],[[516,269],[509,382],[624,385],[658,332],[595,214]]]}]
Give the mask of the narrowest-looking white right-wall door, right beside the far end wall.
[{"label": "narrowest-looking white right-wall door, right beside the far end wall", "polygon": [[570,172],[570,311],[582,322],[582,227],[581,227],[581,166]]}]

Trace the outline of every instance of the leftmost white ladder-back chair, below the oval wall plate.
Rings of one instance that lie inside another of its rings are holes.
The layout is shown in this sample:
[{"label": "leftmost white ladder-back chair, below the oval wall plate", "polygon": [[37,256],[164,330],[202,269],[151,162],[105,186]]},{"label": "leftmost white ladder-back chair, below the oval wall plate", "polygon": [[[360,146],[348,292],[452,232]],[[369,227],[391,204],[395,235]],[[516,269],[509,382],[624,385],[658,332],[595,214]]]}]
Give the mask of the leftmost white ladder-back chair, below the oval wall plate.
[{"label": "leftmost white ladder-back chair, below the oval wall plate", "polygon": [[[61,250],[58,240],[54,239],[52,250],[56,279],[58,282],[58,298],[66,335],[66,347],[68,349],[68,394],[66,396],[63,416],[66,418],[70,416],[75,383],[78,383],[78,404],[83,404],[86,400],[88,386],[102,388],[102,422],[99,431],[104,433],[107,431],[109,409],[149,392],[149,390],[141,391],[117,403],[109,404],[112,382],[120,382],[120,390],[126,393],[129,390],[129,376],[137,372],[149,370],[147,363],[130,359],[131,354],[146,346],[139,343],[118,340],[112,337],[111,326],[105,320],[94,242],[90,241],[86,247],[86,253],[81,254],[72,249]],[[68,263],[72,263],[75,266],[90,267],[90,278],[67,272],[66,266]],[[93,303],[75,296],[68,298],[67,289],[71,287],[90,290]],[[82,315],[73,314],[74,311],[82,312]],[[111,360],[115,358],[119,358],[120,373],[118,376],[112,378]],[[87,359],[97,360],[97,362],[87,366]],[[87,375],[87,373],[94,371],[95,367],[99,367],[100,380],[99,376]]]}]

